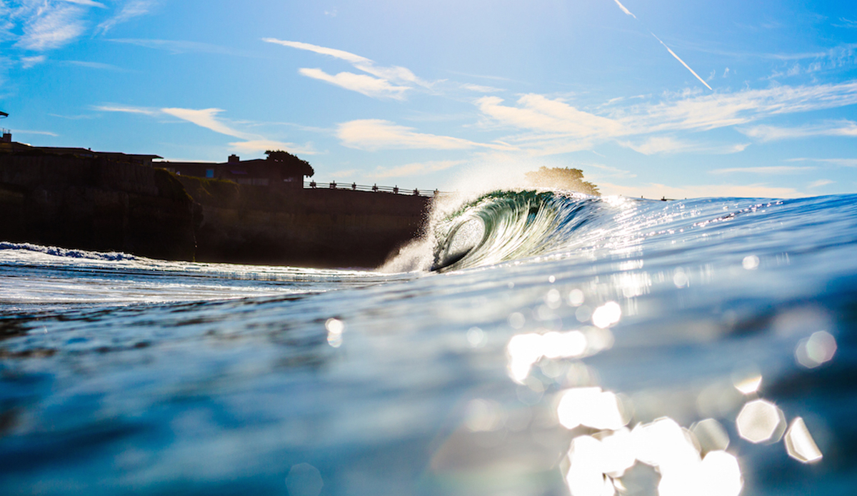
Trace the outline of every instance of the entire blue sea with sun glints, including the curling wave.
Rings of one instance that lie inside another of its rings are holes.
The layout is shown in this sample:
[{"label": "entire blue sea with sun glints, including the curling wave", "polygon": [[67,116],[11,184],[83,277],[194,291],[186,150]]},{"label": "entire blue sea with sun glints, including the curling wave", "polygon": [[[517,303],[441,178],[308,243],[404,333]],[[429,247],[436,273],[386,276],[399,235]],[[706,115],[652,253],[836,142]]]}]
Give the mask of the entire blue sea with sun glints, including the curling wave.
[{"label": "entire blue sea with sun glints, including the curling wave", "polygon": [[851,494],[855,201],[496,192],[438,272],[0,243],[0,493]]}]

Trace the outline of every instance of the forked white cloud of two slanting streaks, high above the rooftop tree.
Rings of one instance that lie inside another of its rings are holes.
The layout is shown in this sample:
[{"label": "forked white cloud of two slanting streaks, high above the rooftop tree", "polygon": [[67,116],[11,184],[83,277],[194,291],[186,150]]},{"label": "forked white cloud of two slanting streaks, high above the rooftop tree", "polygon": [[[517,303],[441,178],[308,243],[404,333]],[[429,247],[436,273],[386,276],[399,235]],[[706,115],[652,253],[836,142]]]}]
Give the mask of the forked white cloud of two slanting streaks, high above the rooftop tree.
[{"label": "forked white cloud of two slanting streaks, high above the rooftop tree", "polygon": [[298,73],[347,90],[363,93],[369,97],[404,99],[407,90],[415,87],[431,87],[431,83],[418,78],[410,69],[399,66],[380,66],[369,58],[349,51],[285,39],[263,38],[262,41],[297,48],[298,50],[312,51],[350,63],[355,69],[361,70],[367,75],[357,75],[350,72],[329,75],[321,69],[299,69]]}]

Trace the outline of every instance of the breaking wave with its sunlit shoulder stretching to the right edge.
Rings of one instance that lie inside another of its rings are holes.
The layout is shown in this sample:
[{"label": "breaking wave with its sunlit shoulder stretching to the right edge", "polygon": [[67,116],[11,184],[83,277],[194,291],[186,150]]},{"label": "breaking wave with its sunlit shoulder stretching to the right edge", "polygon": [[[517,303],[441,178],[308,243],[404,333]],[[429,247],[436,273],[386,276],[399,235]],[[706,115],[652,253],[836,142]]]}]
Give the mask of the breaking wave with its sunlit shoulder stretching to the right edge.
[{"label": "breaking wave with its sunlit shoulder stretching to the right edge", "polygon": [[[710,256],[727,256],[734,248],[729,249],[726,240],[747,235],[750,237],[740,243],[742,250],[767,252],[783,231],[806,229],[818,239],[840,232],[824,226],[842,224],[843,216],[850,218],[854,198],[662,201],[502,190],[458,203],[445,212],[440,212],[442,206],[435,207],[427,239],[420,250],[412,251],[423,257],[416,264],[419,268],[435,272],[548,254],[583,254],[595,260],[595,252],[602,249],[608,258],[624,258],[644,246],[650,259],[660,255],[680,259],[680,252],[692,247],[708,250]],[[401,260],[399,266],[403,266]]]}]

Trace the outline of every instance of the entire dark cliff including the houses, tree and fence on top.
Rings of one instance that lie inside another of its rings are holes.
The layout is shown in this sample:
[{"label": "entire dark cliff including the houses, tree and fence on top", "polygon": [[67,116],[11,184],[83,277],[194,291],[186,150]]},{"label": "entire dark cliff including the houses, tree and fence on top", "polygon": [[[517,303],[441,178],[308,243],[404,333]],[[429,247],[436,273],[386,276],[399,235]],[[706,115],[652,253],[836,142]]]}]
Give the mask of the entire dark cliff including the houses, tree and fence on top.
[{"label": "entire dark cliff including the houses, tree and fence on top", "polygon": [[432,201],[398,188],[303,188],[314,170],[287,152],[223,164],[153,158],[0,142],[0,242],[373,267],[423,233]]}]

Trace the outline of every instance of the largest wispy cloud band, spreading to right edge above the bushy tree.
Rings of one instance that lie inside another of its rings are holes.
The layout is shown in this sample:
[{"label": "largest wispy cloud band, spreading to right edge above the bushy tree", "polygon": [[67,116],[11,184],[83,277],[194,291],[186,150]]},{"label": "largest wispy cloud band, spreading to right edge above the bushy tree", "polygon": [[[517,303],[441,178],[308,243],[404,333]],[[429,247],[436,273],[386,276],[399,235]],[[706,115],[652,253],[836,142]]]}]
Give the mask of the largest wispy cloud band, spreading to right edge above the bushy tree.
[{"label": "largest wispy cloud band, spreading to right edge above the bushy tree", "polygon": [[[483,128],[512,128],[516,134],[502,141],[526,149],[530,154],[552,154],[588,150],[598,143],[620,140],[620,144],[647,154],[656,152],[740,152],[748,143],[734,145],[690,144],[664,133],[704,131],[752,123],[781,114],[818,111],[857,104],[857,82],[788,87],[734,93],[700,94],[698,91],[667,95],[659,102],[596,107],[597,113],[578,109],[566,99],[526,94],[513,105],[498,97],[475,100]],[[852,123],[839,122],[814,133],[851,135]],[[855,124],[857,126],[857,124]],[[758,137],[772,136],[771,128],[746,130]],[[767,134],[765,133],[767,131]],[[801,130],[806,132],[806,130]],[[782,134],[782,133],[781,133]],[[644,139],[629,139],[641,136]]]}]

